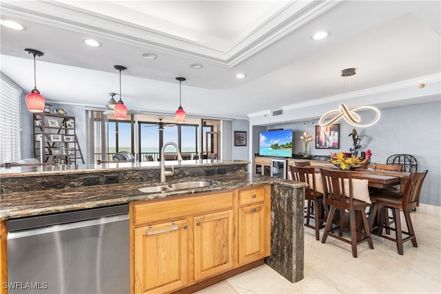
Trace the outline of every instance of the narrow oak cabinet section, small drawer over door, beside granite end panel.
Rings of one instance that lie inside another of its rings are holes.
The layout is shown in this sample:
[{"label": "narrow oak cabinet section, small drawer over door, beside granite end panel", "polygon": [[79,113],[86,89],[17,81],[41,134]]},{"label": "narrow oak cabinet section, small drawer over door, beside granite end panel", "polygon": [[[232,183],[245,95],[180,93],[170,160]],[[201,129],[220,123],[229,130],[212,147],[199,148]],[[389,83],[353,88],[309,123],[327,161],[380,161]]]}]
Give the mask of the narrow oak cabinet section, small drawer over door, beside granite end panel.
[{"label": "narrow oak cabinet section, small drawer over door, beside granite end panel", "polygon": [[238,262],[247,264],[269,255],[270,207],[265,201],[269,187],[243,189],[238,194]]}]

